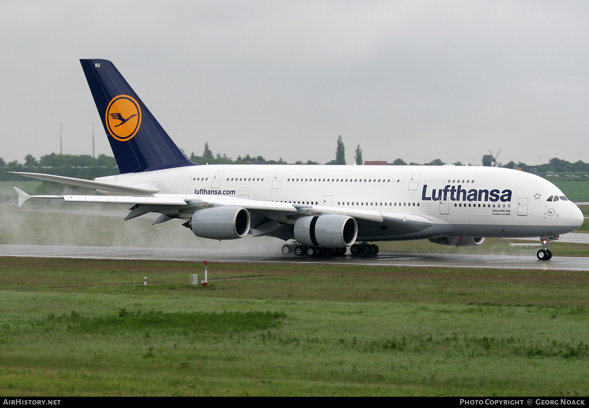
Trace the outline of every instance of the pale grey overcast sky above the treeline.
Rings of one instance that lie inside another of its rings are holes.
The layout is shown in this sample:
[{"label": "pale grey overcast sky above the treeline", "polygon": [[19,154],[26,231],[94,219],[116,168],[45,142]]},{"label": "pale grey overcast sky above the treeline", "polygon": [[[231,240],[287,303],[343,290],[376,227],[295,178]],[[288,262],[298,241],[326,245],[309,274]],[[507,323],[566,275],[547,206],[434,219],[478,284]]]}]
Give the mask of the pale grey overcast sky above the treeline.
[{"label": "pale grey overcast sky above the treeline", "polygon": [[[78,59],[188,154],[589,162],[587,1],[0,2],[0,157],[112,155]],[[580,156],[583,154],[583,156]]]}]

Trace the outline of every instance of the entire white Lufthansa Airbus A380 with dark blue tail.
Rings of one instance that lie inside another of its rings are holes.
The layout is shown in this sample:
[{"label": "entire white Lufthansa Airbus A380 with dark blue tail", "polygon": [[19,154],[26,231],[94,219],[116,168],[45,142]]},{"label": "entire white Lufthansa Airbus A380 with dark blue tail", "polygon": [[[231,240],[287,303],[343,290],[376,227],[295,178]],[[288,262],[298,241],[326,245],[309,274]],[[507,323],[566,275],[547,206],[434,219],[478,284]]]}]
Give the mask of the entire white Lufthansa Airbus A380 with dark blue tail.
[{"label": "entire white Lufthansa Airbus A380 with dark blue tail", "polygon": [[[479,166],[200,166],[189,162],[127,81],[106,60],[81,60],[112,147],[118,176],[81,180],[16,173],[104,195],[30,198],[127,203],[125,220],[160,213],[211,239],[273,236],[284,254],[376,255],[373,241],[429,239],[479,245],[485,237],[550,241],[583,223],[556,186],[517,170]],[[355,244],[360,242],[360,244]]]}]

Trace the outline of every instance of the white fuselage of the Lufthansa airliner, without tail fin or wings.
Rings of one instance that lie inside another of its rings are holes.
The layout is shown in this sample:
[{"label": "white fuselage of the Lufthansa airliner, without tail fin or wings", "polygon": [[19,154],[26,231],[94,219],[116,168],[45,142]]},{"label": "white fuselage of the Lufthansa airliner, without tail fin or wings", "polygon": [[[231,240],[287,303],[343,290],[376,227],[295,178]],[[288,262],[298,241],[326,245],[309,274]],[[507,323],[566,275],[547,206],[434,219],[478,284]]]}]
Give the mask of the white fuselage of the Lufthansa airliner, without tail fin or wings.
[{"label": "white fuselage of the Lufthansa airliner, without tail fin or wings", "polygon": [[100,177],[159,189],[158,195],[218,196],[421,215],[445,228],[399,235],[359,222],[358,240],[434,236],[528,237],[571,232],[583,223],[573,202],[541,177],[481,166],[203,165]]}]

